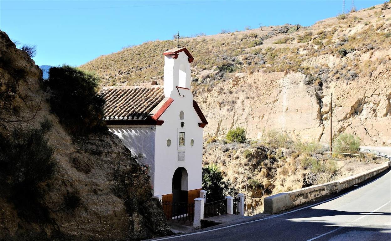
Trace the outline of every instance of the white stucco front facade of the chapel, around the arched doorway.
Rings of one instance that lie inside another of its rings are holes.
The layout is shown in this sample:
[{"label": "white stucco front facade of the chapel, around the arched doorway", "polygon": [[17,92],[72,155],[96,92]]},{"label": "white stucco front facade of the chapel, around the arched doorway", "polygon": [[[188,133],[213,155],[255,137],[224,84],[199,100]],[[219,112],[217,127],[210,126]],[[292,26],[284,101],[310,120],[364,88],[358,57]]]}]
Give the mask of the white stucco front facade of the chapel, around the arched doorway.
[{"label": "white stucco front facade of the chapel, around the arched doorway", "polygon": [[[172,59],[167,62],[170,61]],[[174,68],[174,71],[179,71],[179,66],[185,65],[187,78],[184,84],[186,87],[190,87],[190,63],[184,52],[180,52],[179,57],[174,59],[174,65],[177,66],[177,64],[178,68]],[[166,84],[167,79],[164,81]],[[203,128],[198,126],[201,120],[194,110],[192,93],[189,89],[180,89],[181,95],[185,96],[179,96],[176,87],[169,93],[174,102],[159,118],[159,120],[165,121],[163,125],[156,126],[154,195],[172,193],[172,176],[178,167],[187,170],[188,190],[202,187]],[[181,128],[182,120],[179,118],[181,111],[185,113],[183,129]],[[185,147],[179,147],[179,132],[183,130],[185,132]],[[171,146],[166,145],[167,139],[171,140]],[[193,146],[190,145],[192,139],[194,139]],[[185,161],[178,161],[179,151],[185,151]]]}]

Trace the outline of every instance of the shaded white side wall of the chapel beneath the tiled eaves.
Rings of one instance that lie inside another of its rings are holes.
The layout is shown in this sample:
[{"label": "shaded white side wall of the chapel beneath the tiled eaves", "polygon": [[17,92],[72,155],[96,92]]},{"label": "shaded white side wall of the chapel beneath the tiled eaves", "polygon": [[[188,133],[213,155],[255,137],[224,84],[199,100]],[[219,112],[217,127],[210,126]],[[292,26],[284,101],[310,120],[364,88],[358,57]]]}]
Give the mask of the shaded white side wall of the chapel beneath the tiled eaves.
[{"label": "shaded white side wall of the chapel beneath the tiled eaves", "polygon": [[109,131],[120,137],[132,155],[143,154],[140,164],[149,166],[151,184],[154,184],[155,126],[154,125],[109,125]]}]

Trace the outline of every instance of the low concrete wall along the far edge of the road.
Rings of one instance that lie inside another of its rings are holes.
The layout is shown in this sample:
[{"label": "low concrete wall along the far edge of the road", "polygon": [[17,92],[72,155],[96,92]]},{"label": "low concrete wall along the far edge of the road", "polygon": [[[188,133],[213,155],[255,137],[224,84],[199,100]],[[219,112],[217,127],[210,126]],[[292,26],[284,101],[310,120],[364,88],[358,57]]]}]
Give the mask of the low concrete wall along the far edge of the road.
[{"label": "low concrete wall along the far edge of the road", "polygon": [[355,184],[363,182],[371,177],[376,176],[382,171],[386,171],[391,165],[391,161],[387,161],[384,165],[372,170],[364,171],[357,175],[346,177],[334,182],[327,182],[316,186],[305,187],[298,190],[289,191],[286,193],[278,193],[273,196],[268,196],[264,199],[264,212],[277,213],[299,206],[310,200],[314,200],[321,196],[338,193],[343,189],[352,187]]}]

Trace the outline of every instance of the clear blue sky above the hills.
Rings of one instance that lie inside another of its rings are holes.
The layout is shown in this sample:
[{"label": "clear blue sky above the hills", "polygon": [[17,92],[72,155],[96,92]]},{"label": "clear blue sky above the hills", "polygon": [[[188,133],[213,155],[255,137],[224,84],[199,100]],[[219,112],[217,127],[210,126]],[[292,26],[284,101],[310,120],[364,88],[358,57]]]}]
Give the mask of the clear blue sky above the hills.
[{"label": "clear blue sky above the hills", "polygon": [[[384,0],[355,1],[357,9]],[[352,1],[346,0],[346,9]],[[17,1],[0,0],[0,29],[13,40],[37,45],[38,65],[78,66],[124,46],[222,29],[284,23],[304,26],[342,12],[332,1]]]}]

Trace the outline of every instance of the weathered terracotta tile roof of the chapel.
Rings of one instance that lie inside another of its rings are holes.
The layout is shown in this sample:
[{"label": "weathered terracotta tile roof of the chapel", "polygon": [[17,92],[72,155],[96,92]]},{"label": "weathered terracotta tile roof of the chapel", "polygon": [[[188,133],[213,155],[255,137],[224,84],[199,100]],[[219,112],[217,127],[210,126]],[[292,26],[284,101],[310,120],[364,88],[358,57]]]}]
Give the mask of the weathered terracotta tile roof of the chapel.
[{"label": "weathered terracotta tile roof of the chapel", "polygon": [[110,86],[103,87],[106,120],[144,120],[152,115],[164,99],[161,86]]}]

